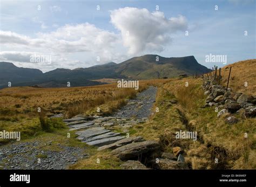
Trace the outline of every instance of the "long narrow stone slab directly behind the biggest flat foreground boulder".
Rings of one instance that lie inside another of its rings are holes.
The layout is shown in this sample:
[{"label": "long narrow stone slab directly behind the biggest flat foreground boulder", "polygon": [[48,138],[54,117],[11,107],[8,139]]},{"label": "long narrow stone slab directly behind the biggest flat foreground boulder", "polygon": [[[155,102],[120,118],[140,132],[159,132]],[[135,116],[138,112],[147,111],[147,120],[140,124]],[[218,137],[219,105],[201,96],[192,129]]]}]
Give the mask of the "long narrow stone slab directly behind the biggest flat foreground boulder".
[{"label": "long narrow stone slab directly behind the biggest flat foreground boulder", "polygon": [[129,143],[142,142],[142,141],[144,141],[144,139],[141,136],[127,137],[127,138],[124,138],[123,140],[119,140],[119,141],[111,143],[107,146],[99,147],[98,151],[104,150],[104,149],[116,149],[116,148],[125,146],[126,144],[129,144]]}]

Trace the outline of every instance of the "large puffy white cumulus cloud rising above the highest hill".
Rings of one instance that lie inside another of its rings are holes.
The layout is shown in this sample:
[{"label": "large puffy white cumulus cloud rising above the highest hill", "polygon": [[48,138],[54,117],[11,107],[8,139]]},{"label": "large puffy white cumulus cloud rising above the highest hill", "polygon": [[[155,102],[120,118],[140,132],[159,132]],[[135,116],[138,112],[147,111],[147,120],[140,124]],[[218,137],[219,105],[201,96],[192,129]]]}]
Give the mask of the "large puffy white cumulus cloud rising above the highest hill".
[{"label": "large puffy white cumulus cloud rising above the highest hill", "polygon": [[184,16],[168,19],[160,11],[126,7],[110,12],[111,23],[121,32],[123,44],[132,55],[163,51],[172,33],[187,28]]}]

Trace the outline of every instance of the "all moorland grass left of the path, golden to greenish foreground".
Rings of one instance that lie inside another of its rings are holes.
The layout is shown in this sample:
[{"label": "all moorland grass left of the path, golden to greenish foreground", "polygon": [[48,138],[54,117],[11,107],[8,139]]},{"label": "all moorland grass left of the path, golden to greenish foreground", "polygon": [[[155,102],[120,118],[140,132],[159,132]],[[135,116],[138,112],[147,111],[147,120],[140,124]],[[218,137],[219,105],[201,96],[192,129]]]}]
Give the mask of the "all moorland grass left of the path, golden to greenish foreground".
[{"label": "all moorland grass left of the path, golden to greenish foreground", "polygon": [[[44,118],[53,114],[64,114],[73,117],[77,114],[107,115],[125,105],[125,100],[143,91],[148,85],[160,85],[167,80],[140,81],[139,89],[117,88],[117,84],[67,87],[35,88],[11,87],[0,90],[0,131],[21,131],[22,138],[31,138],[43,134],[38,107]],[[97,107],[100,112],[97,112]],[[62,129],[61,120],[48,120],[55,129]],[[52,129],[54,131],[54,128]],[[9,140],[0,140],[8,143]]]}]

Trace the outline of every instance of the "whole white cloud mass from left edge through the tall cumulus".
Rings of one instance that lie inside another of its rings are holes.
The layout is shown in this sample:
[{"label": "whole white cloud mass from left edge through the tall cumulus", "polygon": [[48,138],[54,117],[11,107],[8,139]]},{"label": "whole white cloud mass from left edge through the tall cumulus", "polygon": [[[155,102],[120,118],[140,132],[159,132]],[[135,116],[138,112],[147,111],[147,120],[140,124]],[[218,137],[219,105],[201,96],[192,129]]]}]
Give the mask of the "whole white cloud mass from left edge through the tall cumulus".
[{"label": "whole white cloud mass from left edge through the tall cumulus", "polygon": [[[52,12],[62,10],[58,6],[50,9]],[[38,20],[35,18],[33,22],[44,24]],[[85,53],[93,63],[118,62],[144,52],[161,52],[171,43],[173,33],[187,28],[184,16],[166,18],[160,11],[130,7],[110,11],[110,23],[117,29],[116,32],[100,29],[90,23],[66,24],[52,32],[35,33],[33,38],[0,31],[1,44],[9,49],[2,51],[0,58],[28,63],[31,54],[51,54],[53,65],[61,67],[61,60],[65,59],[66,66],[68,56]],[[100,61],[96,62],[96,59]],[[73,64],[74,60],[70,62]]]}]

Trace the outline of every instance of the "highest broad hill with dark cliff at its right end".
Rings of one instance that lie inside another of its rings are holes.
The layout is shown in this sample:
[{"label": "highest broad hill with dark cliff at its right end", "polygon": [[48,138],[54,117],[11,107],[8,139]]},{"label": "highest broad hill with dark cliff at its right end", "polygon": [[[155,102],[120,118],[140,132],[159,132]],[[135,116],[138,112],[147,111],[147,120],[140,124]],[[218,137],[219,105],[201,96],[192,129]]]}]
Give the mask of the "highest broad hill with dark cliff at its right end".
[{"label": "highest broad hill with dark cliff at its right end", "polygon": [[[159,61],[156,61],[157,57]],[[180,74],[201,74],[208,69],[200,65],[194,56],[165,58],[154,54],[134,57],[119,64],[117,72],[134,79],[157,79],[176,77]]]}]

